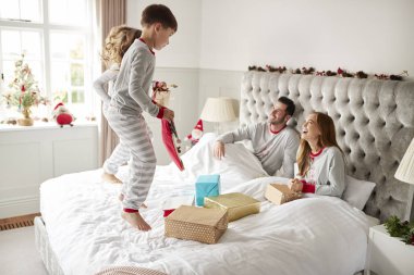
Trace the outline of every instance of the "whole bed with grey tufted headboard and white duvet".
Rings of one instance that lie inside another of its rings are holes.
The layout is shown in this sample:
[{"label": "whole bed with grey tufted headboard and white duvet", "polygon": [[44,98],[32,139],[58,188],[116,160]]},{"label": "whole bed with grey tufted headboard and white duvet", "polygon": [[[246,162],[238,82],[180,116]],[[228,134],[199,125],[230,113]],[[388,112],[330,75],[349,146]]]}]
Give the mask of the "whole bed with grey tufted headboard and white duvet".
[{"label": "whole bed with grey tufted headboard and white duvet", "polygon": [[[248,72],[242,83],[241,123],[266,120],[271,100],[279,96],[302,107],[296,112],[300,122],[304,109],[328,110],[349,174],[377,183],[365,211],[381,220],[390,214],[401,217],[407,188],[392,173],[413,137],[413,90],[414,83]],[[360,105],[361,101],[366,103]],[[122,221],[120,187],[101,183],[101,171],[45,182],[42,220],[35,222],[37,246],[50,274],[92,275],[109,266],[141,266],[171,275],[352,275],[364,268],[372,225],[364,212],[341,199],[317,196],[276,207],[264,199],[265,186],[285,179],[263,177],[258,161],[242,145],[229,146],[224,161],[214,160],[211,139],[206,135],[183,155],[184,173],[173,164],[157,167],[148,210],[143,211],[153,226],[148,233]],[[126,171],[123,167],[119,176],[124,178]],[[162,201],[193,193],[200,174],[220,174],[222,193],[249,195],[263,201],[261,212],[230,223],[217,245],[163,237]]]}]

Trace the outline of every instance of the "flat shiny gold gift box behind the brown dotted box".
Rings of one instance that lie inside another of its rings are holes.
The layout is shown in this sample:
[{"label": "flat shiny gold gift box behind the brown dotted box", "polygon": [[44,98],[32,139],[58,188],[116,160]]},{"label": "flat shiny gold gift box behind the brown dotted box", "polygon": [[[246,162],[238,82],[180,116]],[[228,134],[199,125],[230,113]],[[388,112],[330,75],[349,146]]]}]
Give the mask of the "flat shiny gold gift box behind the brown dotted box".
[{"label": "flat shiny gold gift box behind the brown dotted box", "polygon": [[260,212],[260,201],[241,192],[206,197],[204,198],[204,207],[227,211],[229,223]]}]

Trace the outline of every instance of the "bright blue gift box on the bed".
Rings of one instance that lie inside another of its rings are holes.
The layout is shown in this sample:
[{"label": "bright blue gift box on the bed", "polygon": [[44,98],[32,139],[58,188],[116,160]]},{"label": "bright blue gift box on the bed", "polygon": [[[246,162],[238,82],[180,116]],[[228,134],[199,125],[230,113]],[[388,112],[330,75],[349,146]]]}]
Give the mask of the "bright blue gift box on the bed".
[{"label": "bright blue gift box on the bed", "polygon": [[204,205],[204,197],[220,195],[220,175],[200,175],[195,183],[195,204]]}]

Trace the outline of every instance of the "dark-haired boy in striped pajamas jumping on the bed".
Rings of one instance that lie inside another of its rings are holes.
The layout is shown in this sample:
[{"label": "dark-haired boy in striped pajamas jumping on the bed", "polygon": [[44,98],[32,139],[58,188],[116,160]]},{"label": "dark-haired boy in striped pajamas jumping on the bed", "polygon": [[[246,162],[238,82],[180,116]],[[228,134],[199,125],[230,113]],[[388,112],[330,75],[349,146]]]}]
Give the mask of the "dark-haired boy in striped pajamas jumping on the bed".
[{"label": "dark-haired boy in striped pajamas jumping on the bed", "polygon": [[107,110],[107,120],[117,133],[120,142],[130,149],[130,176],[123,184],[124,199],[122,217],[139,230],[151,227],[139,214],[156,168],[156,157],[143,116],[172,121],[174,112],[157,105],[148,96],[155,70],[155,52],[169,43],[176,32],[176,20],[169,8],[151,4],[142,14],[142,36],[125,52],[113,88],[113,96]]}]

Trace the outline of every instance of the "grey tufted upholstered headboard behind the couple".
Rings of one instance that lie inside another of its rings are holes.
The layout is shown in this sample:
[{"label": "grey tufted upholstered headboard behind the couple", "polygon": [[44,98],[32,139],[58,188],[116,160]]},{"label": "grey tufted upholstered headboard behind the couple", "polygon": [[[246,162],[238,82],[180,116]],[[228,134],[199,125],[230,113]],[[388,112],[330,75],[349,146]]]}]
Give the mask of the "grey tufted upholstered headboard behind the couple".
[{"label": "grey tufted upholstered headboard behind the couple", "polygon": [[404,217],[409,185],[393,175],[414,136],[414,82],[246,72],[241,124],[266,121],[281,96],[296,104],[291,124],[297,130],[312,110],[333,118],[346,173],[377,184],[364,209],[367,214],[381,221]]}]

